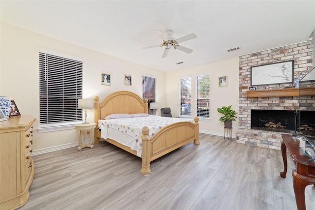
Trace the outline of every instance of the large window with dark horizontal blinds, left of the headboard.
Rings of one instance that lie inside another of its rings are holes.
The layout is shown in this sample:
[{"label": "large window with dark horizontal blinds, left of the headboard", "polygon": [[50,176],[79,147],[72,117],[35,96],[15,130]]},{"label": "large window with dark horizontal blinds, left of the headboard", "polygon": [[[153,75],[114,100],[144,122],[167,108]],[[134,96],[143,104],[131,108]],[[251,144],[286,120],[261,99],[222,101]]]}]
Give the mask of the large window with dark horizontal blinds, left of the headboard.
[{"label": "large window with dark horizontal blinds, left of the headboard", "polygon": [[82,65],[81,61],[39,53],[40,125],[62,126],[82,120],[77,108],[78,98],[82,98]]}]

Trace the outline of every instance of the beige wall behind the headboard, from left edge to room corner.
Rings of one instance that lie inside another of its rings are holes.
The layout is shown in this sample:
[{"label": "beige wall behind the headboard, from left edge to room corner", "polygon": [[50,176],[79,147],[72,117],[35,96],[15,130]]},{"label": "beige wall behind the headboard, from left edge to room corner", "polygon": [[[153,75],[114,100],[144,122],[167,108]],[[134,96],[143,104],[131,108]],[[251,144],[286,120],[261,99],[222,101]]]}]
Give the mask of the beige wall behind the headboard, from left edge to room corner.
[{"label": "beige wall behind the headboard, from left edge to room corner", "polygon": [[[157,78],[157,98],[165,104],[165,72],[110,57],[86,48],[71,45],[32,31],[1,23],[0,31],[0,95],[14,100],[22,115],[36,118],[39,124],[39,51],[67,58],[79,59],[83,64],[83,97],[98,95],[103,100],[118,90],[128,90],[142,95],[142,75]],[[112,76],[111,86],[101,85],[101,73]],[[132,86],[124,85],[124,75],[132,75]],[[88,121],[94,113],[88,111]],[[77,143],[74,129],[37,133],[33,135],[33,150],[42,150]]]}]

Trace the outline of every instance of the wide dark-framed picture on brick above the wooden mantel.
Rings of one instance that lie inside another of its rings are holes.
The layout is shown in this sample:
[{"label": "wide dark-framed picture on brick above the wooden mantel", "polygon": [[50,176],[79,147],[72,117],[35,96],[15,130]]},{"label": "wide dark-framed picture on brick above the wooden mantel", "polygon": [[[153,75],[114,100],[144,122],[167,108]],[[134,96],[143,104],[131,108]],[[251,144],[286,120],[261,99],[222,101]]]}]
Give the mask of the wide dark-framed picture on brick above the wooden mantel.
[{"label": "wide dark-framed picture on brick above the wooden mantel", "polygon": [[251,85],[273,85],[293,82],[293,60],[251,67]]}]

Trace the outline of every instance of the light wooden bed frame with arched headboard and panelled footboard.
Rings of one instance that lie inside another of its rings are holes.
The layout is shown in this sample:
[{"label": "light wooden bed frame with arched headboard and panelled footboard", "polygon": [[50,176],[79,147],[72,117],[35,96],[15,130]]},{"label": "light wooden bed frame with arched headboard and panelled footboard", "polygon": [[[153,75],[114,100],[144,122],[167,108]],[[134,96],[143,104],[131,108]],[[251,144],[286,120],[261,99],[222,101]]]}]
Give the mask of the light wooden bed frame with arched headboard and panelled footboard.
[{"label": "light wooden bed frame with arched headboard and panelled footboard", "polygon": [[[148,114],[148,100],[143,102],[142,98],[137,94],[129,91],[118,91],[108,95],[102,102],[99,102],[99,97],[94,98],[95,112],[95,144],[102,139],[111,143],[123,150],[126,150],[134,155],[137,155],[136,150],[111,139],[102,138],[99,130],[99,120],[113,114]],[[142,174],[151,172],[150,162],[163,156],[173,150],[176,150],[183,145],[193,141],[193,144],[199,145],[199,119],[195,117],[193,122],[181,121],[175,122],[159,129],[153,136],[149,137],[150,129],[148,126],[143,126],[141,129],[142,140]]]}]

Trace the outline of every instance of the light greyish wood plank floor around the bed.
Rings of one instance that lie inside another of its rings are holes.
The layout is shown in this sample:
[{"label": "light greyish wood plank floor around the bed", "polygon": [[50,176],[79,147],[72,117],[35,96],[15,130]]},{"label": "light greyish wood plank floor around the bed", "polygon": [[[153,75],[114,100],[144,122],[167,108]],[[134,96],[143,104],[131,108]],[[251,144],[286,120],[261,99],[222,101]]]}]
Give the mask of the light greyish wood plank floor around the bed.
[{"label": "light greyish wood plank floor around the bed", "polygon": [[[296,210],[291,171],[281,178],[280,150],[200,134],[151,163],[100,142],[33,156],[35,176],[21,210]],[[306,188],[307,210],[315,209],[315,187]]]}]

